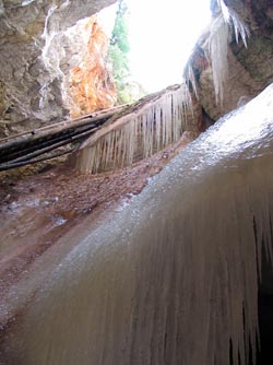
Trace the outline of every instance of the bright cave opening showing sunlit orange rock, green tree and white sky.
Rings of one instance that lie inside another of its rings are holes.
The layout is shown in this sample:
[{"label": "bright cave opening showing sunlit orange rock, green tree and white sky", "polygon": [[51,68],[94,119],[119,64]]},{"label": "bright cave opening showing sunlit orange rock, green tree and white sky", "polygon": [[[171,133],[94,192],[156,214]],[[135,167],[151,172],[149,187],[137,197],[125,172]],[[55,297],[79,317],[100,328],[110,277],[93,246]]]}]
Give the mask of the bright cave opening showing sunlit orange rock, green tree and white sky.
[{"label": "bright cave opening showing sunlit orange rock, green tree and white sky", "polygon": [[40,59],[50,80],[41,85],[37,109],[49,107],[58,80],[59,97],[72,118],[181,83],[211,20],[210,0],[171,0],[168,7],[119,0],[61,30],[54,23],[56,12],[49,9],[41,35]]}]

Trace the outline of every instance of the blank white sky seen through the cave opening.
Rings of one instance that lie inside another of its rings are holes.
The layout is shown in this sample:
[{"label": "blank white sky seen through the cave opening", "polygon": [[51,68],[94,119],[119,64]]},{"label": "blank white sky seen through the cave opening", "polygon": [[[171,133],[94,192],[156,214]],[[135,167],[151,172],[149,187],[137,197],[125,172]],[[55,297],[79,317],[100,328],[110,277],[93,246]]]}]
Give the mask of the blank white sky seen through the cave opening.
[{"label": "blank white sky seen through the cave opening", "polygon": [[210,0],[126,2],[133,79],[147,92],[181,82],[183,66],[210,22]]}]

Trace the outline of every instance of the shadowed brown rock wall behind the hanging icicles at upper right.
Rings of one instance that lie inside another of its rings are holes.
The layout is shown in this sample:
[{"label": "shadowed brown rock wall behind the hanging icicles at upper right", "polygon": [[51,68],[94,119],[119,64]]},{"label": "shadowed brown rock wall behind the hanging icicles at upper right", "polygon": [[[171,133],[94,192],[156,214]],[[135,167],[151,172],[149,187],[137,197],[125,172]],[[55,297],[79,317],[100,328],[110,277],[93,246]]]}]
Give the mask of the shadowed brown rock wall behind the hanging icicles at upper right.
[{"label": "shadowed brown rock wall behind the hanging icicles at upper right", "polygon": [[[272,0],[223,1],[247,25],[247,47],[232,31],[227,49],[227,78],[223,103],[216,103],[212,67],[207,61],[207,34],[198,42],[189,61],[198,85],[199,103],[213,120],[246,104],[273,82],[273,4]],[[211,9],[217,16],[219,1],[212,0]],[[211,55],[213,57],[214,55]]]}]

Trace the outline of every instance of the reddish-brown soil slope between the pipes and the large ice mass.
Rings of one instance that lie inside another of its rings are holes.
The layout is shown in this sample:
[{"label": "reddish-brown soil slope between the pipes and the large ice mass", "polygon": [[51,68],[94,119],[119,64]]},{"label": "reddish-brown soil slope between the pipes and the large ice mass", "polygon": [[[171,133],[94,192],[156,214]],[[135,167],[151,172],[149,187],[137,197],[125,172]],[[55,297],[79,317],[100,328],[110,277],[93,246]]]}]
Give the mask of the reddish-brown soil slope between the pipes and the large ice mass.
[{"label": "reddish-brown soil slope between the pipes and the large ice mass", "polygon": [[19,173],[0,175],[0,301],[79,220],[86,214],[95,220],[114,202],[138,195],[192,138],[189,133],[176,145],[117,172],[80,174],[63,163],[22,178]]}]

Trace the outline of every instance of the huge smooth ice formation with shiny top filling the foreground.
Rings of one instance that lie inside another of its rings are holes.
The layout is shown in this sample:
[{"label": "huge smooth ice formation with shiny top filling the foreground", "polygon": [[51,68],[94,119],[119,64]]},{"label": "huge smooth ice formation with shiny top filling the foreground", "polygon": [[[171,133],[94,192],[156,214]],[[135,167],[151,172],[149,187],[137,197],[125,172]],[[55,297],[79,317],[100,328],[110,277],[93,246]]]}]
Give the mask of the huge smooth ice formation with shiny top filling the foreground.
[{"label": "huge smooth ice formation with shiny top filling the foreground", "polygon": [[254,364],[272,151],[273,84],[122,210],[63,237],[76,245],[35,291],[7,364],[249,365],[250,346]]}]

